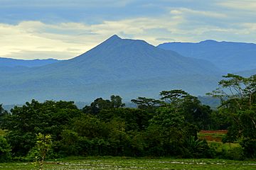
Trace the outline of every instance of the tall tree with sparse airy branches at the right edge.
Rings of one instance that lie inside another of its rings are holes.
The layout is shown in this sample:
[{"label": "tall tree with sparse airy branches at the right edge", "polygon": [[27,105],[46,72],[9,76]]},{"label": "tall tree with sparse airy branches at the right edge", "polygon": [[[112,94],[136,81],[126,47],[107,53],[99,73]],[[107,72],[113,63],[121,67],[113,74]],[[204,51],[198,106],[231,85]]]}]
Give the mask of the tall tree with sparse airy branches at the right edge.
[{"label": "tall tree with sparse airy branches at the right edge", "polygon": [[228,134],[223,142],[240,140],[246,157],[256,155],[256,75],[245,78],[235,74],[224,76],[220,88],[210,95],[220,98],[219,112],[227,115]]}]

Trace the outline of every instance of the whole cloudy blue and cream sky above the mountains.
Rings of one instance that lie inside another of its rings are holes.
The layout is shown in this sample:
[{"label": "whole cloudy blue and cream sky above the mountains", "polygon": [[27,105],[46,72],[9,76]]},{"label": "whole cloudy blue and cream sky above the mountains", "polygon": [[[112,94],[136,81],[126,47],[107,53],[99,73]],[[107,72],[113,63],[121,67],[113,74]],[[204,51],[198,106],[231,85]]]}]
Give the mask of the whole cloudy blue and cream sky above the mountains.
[{"label": "whole cloudy blue and cream sky above the mountains", "polygon": [[0,57],[70,59],[112,35],[256,43],[256,0],[0,0]]}]

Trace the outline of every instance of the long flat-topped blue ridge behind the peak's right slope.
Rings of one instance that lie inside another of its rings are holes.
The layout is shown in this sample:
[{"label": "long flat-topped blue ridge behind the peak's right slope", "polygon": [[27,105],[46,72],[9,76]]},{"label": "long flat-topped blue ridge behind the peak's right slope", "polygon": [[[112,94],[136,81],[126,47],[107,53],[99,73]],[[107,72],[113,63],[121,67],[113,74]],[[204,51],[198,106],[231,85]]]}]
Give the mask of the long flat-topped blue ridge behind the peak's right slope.
[{"label": "long flat-topped blue ridge behind the peak's right slope", "polygon": [[186,57],[208,60],[224,72],[256,69],[256,44],[253,43],[206,40],[197,43],[167,42],[158,47],[174,50]]}]

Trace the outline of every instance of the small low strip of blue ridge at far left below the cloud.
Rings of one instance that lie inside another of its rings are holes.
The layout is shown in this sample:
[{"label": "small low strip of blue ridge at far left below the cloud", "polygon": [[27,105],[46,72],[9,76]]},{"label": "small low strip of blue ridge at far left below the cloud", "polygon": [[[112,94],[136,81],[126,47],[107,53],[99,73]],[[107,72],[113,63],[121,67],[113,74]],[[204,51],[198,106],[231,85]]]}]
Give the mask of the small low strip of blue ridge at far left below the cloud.
[{"label": "small low strip of blue ridge at far left below the cloud", "polygon": [[55,59],[46,60],[17,60],[11,58],[0,57],[0,67],[40,67],[47,64],[58,62]]}]

